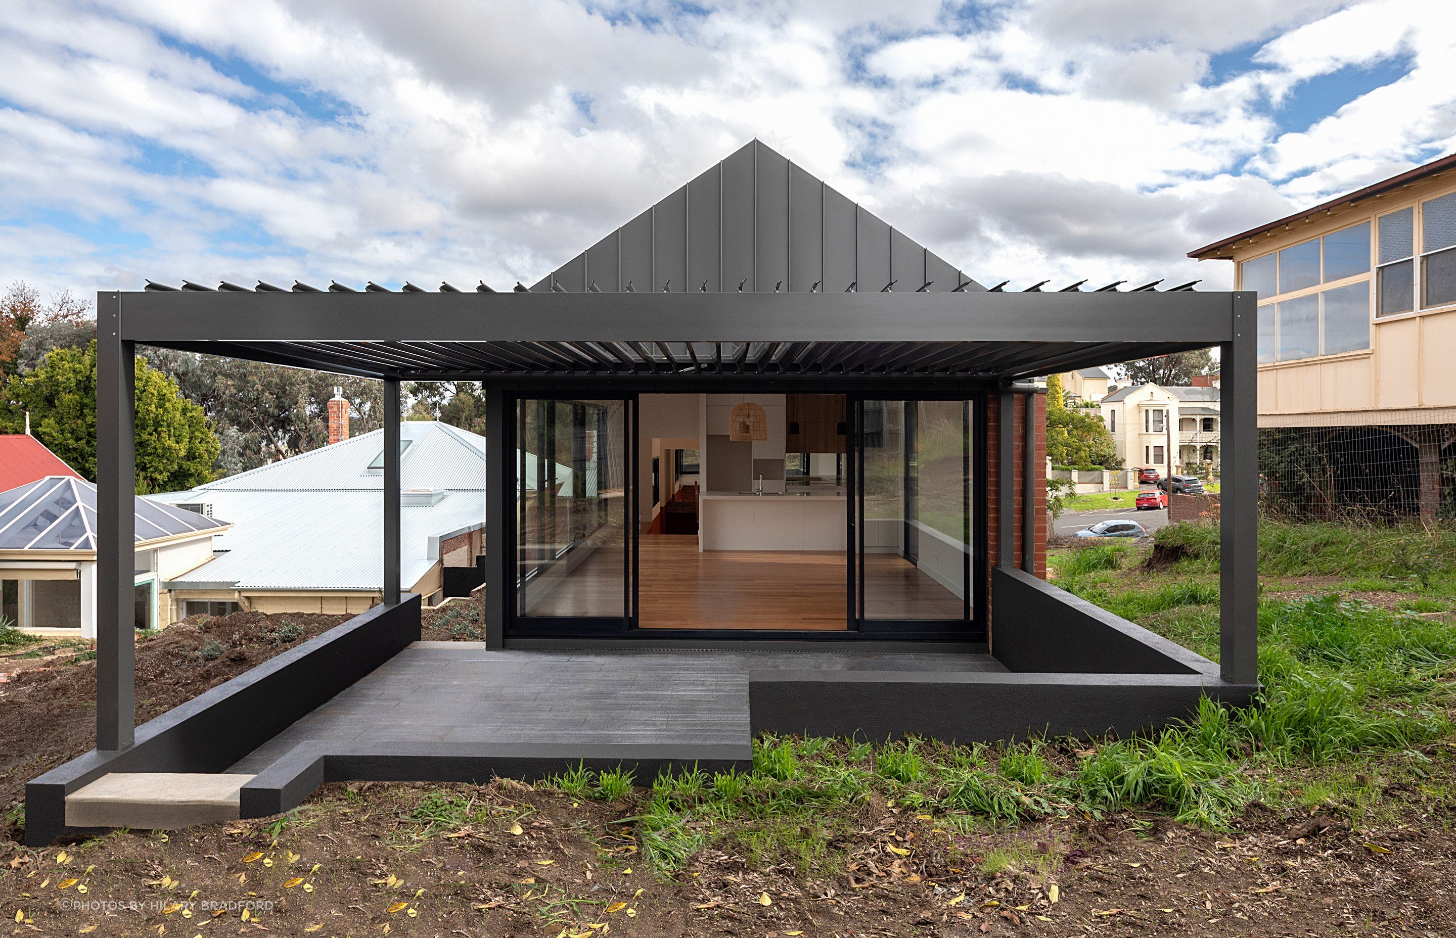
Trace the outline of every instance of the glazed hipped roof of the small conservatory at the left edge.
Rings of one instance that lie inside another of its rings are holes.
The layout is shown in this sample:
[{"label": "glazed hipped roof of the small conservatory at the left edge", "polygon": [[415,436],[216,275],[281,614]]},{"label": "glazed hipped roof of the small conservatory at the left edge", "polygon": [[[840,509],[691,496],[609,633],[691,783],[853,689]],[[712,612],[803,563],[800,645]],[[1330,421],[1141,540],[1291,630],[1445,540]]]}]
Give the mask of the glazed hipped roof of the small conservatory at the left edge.
[{"label": "glazed hipped roof of the small conservatory at the left edge", "polygon": [[[135,542],[227,526],[197,511],[135,498]],[[95,551],[96,485],[47,476],[0,492],[0,551]]]}]

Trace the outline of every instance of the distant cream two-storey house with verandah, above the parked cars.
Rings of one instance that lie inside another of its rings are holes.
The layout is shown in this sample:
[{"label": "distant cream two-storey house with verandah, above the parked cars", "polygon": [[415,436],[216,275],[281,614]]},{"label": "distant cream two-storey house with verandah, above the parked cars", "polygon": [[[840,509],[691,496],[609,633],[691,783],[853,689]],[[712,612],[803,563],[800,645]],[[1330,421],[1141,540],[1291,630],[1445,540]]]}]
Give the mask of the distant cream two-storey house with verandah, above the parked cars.
[{"label": "distant cream two-storey house with verandah, above the parked cars", "polygon": [[1217,469],[1223,433],[1219,395],[1211,379],[1191,387],[1120,387],[1102,398],[1102,422],[1128,466],[1149,466],[1163,478],[1185,472],[1192,463]]}]

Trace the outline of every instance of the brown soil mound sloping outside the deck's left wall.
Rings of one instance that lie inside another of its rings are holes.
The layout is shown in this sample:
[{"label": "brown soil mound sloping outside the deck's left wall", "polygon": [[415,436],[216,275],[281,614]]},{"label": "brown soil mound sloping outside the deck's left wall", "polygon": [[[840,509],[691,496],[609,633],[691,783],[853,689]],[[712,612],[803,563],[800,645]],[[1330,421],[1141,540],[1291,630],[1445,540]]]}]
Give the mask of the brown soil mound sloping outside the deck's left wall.
[{"label": "brown soil mound sloping outside the deck's left wall", "polygon": [[[242,674],[348,616],[237,612],[194,616],[137,641],[137,725]],[[0,805],[25,782],[96,744],[95,653],[10,658],[0,683]],[[0,833],[13,835],[9,817]]]}]

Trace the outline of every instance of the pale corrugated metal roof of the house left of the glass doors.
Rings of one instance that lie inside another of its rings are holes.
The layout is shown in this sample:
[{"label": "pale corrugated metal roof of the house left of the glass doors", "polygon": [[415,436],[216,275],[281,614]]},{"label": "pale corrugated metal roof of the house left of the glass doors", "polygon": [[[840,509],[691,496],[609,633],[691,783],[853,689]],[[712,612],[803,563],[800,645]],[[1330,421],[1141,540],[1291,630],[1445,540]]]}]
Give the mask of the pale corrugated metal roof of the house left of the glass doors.
[{"label": "pale corrugated metal roof of the house left of the glass doors", "polygon": [[[400,578],[408,587],[438,559],[431,556],[431,537],[483,526],[485,438],[438,421],[405,421],[400,440],[409,443],[400,488],[443,492],[434,504],[400,510]],[[214,514],[236,521],[214,539],[218,553],[172,581],[175,587],[377,590],[384,481],[368,466],[383,441],[376,430],[189,492],[153,495],[169,504],[211,502]],[[569,479],[565,466],[558,469],[558,478],[563,475]]]}]

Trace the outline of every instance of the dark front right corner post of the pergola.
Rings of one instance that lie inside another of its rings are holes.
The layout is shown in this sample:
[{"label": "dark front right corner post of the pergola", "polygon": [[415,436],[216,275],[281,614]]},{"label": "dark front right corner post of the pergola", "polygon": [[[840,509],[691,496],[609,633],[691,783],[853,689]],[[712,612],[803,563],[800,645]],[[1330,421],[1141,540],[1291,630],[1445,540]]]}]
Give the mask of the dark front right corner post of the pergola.
[{"label": "dark front right corner post of the pergola", "polygon": [[1252,685],[1259,676],[1258,310],[1254,293],[1233,294],[1233,341],[1222,357],[1219,495],[1219,669]]}]

